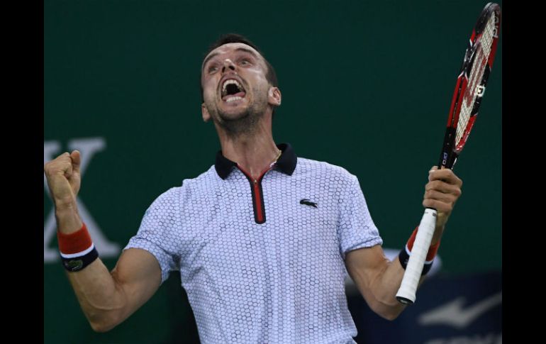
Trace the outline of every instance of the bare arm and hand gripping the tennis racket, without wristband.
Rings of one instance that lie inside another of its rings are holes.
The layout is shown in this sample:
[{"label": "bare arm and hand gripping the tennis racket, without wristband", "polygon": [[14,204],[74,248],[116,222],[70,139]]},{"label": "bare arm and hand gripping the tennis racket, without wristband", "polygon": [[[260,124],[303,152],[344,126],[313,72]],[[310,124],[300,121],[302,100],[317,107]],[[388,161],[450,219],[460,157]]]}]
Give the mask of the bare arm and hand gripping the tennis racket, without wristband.
[{"label": "bare arm and hand gripping the tennis racket, without wristband", "polygon": [[[431,245],[440,241],[455,202],[461,195],[462,181],[452,170],[431,170],[425,185],[423,206],[438,210],[435,233]],[[392,262],[385,257],[379,245],[352,250],[345,257],[345,266],[360,294],[379,316],[393,320],[406,308],[396,301],[396,292],[403,277],[403,267],[398,257]],[[423,282],[421,277],[419,285]]]}]

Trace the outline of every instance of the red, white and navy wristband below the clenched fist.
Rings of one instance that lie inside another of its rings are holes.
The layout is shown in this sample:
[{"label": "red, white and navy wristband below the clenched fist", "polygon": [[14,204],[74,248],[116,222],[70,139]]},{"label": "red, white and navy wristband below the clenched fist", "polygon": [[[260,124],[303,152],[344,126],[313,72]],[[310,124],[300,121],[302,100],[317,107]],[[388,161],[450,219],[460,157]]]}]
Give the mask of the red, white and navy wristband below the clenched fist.
[{"label": "red, white and navy wristband below the clenched fist", "polygon": [[57,231],[57,241],[62,265],[69,272],[82,270],[99,257],[85,223],[74,233],[65,234]]}]

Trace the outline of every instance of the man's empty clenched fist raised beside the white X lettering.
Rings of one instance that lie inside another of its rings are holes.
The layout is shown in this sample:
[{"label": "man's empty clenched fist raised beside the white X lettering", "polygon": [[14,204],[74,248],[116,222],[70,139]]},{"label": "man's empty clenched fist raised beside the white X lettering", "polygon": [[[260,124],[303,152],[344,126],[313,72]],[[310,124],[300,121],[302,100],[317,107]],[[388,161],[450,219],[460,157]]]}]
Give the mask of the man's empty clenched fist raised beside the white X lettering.
[{"label": "man's empty clenched fist raised beside the white X lettering", "polygon": [[50,194],[57,210],[76,203],[81,182],[80,162],[79,152],[74,150],[72,153],[65,152],[44,165],[45,177],[48,179]]}]

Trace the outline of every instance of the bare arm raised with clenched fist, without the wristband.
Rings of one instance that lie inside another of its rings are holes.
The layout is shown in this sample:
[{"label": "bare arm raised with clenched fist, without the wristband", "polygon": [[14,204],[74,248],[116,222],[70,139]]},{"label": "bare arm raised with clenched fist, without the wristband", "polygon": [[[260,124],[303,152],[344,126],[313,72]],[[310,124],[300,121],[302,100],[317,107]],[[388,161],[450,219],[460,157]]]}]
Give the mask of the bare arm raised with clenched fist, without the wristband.
[{"label": "bare arm raised with clenched fist, without the wristband", "polygon": [[[74,233],[82,228],[76,195],[80,186],[79,152],[64,153],[45,164],[44,170],[55,204],[57,231]],[[157,291],[161,268],[146,250],[124,251],[108,272],[100,259],[78,272],[67,272],[91,327],[108,331],[133,314]]]}]

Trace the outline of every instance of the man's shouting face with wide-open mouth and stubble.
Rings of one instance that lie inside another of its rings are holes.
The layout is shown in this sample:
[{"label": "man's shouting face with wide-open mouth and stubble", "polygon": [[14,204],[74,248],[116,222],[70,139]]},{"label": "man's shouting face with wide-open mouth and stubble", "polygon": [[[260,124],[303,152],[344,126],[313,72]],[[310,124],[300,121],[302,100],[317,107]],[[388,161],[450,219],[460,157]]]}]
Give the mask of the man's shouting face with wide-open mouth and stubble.
[{"label": "man's shouting face with wide-open mouth and stubble", "polygon": [[243,118],[255,122],[269,105],[279,105],[280,91],[266,75],[264,58],[249,45],[228,43],[211,51],[201,67],[204,120],[221,126]]}]

